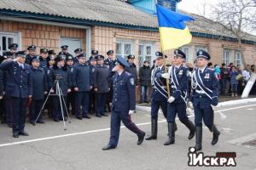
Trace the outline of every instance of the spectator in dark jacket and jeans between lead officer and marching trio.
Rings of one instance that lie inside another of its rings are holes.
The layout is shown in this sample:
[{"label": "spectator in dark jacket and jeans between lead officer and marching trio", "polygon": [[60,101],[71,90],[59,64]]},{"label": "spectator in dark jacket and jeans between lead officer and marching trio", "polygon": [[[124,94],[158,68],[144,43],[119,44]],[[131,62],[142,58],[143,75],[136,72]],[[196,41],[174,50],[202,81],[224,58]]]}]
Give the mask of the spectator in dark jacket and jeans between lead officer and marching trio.
[{"label": "spectator in dark jacket and jeans between lead officer and marching trio", "polygon": [[139,70],[139,79],[141,83],[141,99],[140,103],[148,103],[148,88],[150,84],[151,70],[149,61],[145,60],[144,65]]}]

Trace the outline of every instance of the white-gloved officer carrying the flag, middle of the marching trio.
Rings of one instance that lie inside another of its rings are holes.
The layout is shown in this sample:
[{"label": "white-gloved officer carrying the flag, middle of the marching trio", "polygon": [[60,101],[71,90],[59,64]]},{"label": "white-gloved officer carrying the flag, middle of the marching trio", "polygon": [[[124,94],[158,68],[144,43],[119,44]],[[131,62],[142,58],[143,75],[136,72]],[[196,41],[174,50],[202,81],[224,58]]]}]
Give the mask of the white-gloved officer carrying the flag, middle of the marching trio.
[{"label": "white-gloved officer carrying the flag, middle of the marching trio", "polygon": [[186,113],[187,97],[189,88],[189,69],[183,66],[183,60],[186,54],[181,50],[174,51],[173,65],[169,68],[168,73],[164,73],[161,77],[170,78],[171,97],[167,100],[167,122],[169,139],[165,145],[175,143],[175,118],[178,116],[180,122],[189,128],[189,139],[195,136],[195,125],[189,121]]}]

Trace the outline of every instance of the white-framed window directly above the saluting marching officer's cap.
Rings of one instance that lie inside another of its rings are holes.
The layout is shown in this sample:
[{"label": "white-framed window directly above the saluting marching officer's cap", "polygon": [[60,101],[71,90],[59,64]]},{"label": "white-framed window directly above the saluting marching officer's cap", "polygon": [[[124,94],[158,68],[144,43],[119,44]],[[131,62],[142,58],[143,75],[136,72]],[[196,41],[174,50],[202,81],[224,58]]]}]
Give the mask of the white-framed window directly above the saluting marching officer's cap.
[{"label": "white-framed window directly above the saluting marching officer's cap", "polygon": [[126,59],[127,55],[133,54],[132,42],[119,40],[116,42],[116,56]]}]

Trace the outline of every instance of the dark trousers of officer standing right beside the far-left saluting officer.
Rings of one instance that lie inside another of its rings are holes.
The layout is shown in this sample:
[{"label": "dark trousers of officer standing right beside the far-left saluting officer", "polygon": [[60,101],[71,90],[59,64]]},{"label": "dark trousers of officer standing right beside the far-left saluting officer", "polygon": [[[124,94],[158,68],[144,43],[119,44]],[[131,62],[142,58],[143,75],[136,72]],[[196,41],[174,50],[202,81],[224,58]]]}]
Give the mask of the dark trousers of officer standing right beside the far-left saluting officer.
[{"label": "dark trousers of officer standing right beside the far-left saluting officer", "polygon": [[[35,122],[39,112],[41,111],[44,105],[44,99],[32,99],[29,106],[29,122]],[[42,121],[42,113],[38,117],[38,121]]]}]

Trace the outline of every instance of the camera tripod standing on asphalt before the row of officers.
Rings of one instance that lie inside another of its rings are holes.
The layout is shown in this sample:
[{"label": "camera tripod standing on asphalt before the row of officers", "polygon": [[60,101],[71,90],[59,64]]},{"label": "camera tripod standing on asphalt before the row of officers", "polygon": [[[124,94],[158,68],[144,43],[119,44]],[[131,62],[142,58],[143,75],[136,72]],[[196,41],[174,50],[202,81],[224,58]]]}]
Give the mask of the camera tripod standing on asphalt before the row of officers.
[{"label": "camera tripod standing on asphalt before the row of officers", "polygon": [[[49,99],[49,96],[58,96],[59,99],[60,99],[60,105],[61,105],[61,116],[62,116],[62,121],[63,121],[63,129],[67,130],[67,126],[66,126],[66,122],[65,122],[65,116],[64,116],[64,110],[63,110],[64,109],[63,105],[64,105],[65,110],[66,110],[68,122],[71,123],[71,120],[70,120],[70,117],[68,115],[67,105],[66,105],[65,99],[63,97],[61,87],[60,87],[60,82],[59,82],[60,79],[61,79],[60,77],[56,77],[55,83],[52,86],[52,88],[50,88],[49,94],[47,94],[47,97],[44,100],[44,105],[42,106],[42,108],[41,108],[41,110],[40,110],[40,112],[38,114],[38,117],[37,117],[37,119],[36,119],[36,121],[34,123],[38,122],[39,116],[42,114],[42,111],[44,110],[44,106],[46,105],[46,103],[47,103],[47,101]],[[51,92],[53,91],[54,87],[56,87],[56,93],[55,94],[51,94]],[[62,102],[63,102],[63,105],[62,105]]]}]

